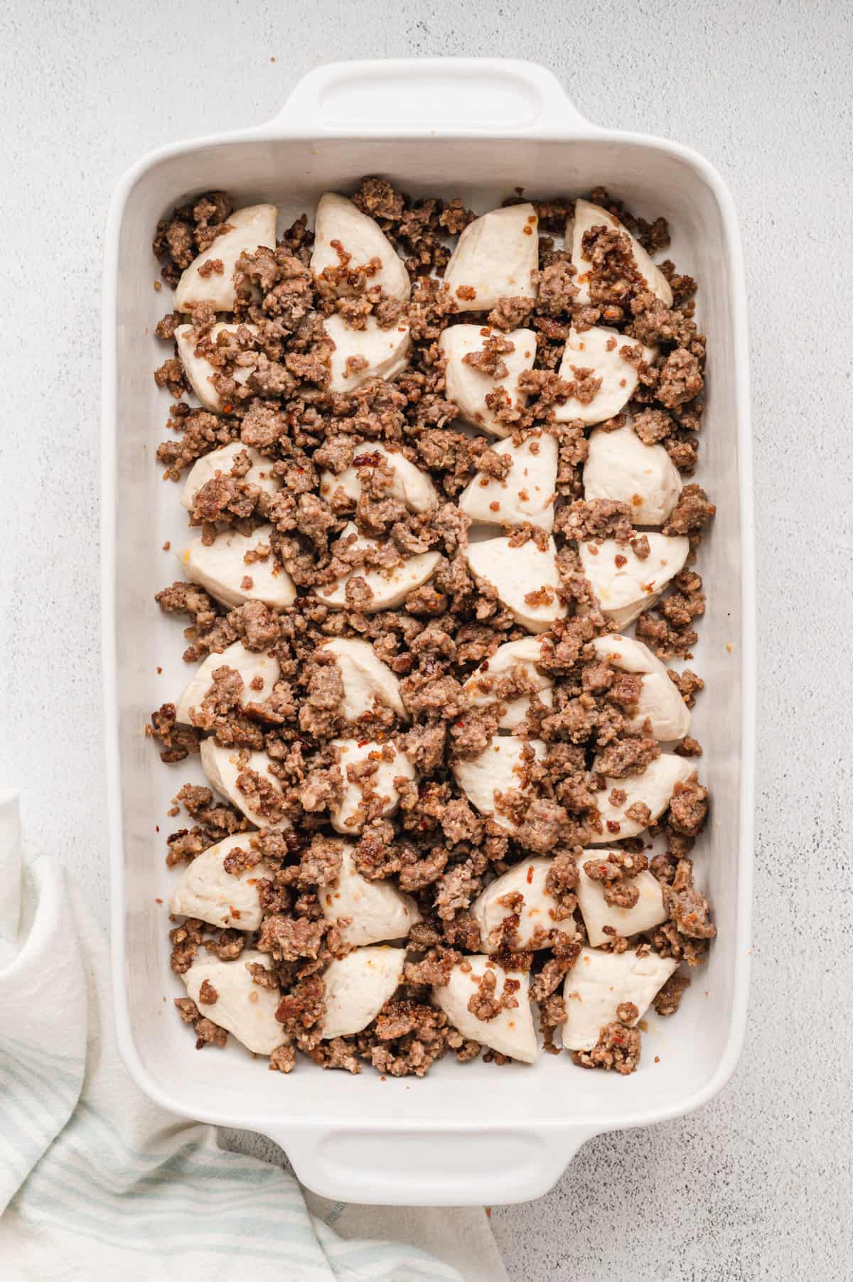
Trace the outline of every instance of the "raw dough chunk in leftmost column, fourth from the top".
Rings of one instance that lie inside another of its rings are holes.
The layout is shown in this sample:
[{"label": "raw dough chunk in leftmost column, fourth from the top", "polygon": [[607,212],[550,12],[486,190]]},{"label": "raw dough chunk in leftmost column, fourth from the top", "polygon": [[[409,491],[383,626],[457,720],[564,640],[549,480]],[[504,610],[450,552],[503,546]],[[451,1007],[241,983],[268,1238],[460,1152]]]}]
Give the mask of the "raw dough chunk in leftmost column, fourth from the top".
[{"label": "raw dough chunk in leftmost column, fourth from the top", "polygon": [[[272,526],[258,526],[250,535],[223,529],[212,544],[194,538],[181,558],[183,573],[223,605],[263,601],[272,610],[283,610],[295,601],[296,585],[276,560],[271,535]],[[268,549],[267,556],[246,562],[246,553],[262,544]]]}]

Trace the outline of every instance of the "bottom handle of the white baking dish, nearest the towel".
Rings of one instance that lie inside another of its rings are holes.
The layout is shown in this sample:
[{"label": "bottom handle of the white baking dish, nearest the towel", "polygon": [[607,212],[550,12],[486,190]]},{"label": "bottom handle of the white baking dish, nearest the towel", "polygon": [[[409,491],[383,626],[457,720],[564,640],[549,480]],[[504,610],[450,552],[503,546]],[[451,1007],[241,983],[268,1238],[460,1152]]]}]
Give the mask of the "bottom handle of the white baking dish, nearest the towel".
[{"label": "bottom handle of the white baking dish, nearest the towel", "polygon": [[491,1206],[552,1188],[594,1128],[448,1127],[394,1129],[307,1123],[269,1137],[296,1177],[336,1201],[384,1206]]}]

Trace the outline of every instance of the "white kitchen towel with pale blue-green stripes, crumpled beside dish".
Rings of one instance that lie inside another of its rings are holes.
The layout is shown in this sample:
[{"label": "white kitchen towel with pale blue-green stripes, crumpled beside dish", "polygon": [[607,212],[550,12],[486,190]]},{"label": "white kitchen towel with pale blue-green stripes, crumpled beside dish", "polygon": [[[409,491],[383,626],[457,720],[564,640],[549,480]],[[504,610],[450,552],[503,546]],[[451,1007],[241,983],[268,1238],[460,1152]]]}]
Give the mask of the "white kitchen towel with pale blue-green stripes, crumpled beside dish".
[{"label": "white kitchen towel with pale blue-green stripes, crumpled beside dish", "polygon": [[55,858],[22,862],[10,791],[0,886],[3,1282],[505,1279],[482,1210],[310,1194],[309,1210],[292,1176],[144,1096],[115,1046],[104,933]]}]

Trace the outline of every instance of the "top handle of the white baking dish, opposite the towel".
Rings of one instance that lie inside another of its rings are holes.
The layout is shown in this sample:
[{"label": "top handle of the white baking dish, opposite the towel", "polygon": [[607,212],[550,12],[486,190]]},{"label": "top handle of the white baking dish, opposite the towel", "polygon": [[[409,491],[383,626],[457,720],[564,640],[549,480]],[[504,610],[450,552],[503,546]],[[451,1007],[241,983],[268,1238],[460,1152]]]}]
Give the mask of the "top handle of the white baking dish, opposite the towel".
[{"label": "top handle of the white baking dish, opposite the towel", "polygon": [[440,133],[593,136],[557,77],[511,58],[327,63],[304,76],[263,131],[277,137]]}]

